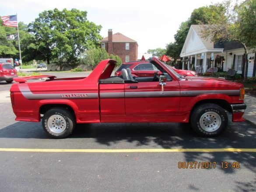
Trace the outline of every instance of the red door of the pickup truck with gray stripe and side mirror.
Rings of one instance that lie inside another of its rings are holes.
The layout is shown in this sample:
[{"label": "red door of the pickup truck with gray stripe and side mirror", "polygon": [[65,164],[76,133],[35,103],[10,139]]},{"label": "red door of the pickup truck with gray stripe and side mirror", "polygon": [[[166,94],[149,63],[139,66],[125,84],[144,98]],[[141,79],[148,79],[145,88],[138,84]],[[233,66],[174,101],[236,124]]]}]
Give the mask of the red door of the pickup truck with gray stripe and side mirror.
[{"label": "red door of the pickup truck with gray stripe and side mirror", "polygon": [[[167,81],[162,92],[159,82],[125,84],[126,115],[171,115],[179,112],[179,83]],[[161,117],[161,116],[160,116]]]}]

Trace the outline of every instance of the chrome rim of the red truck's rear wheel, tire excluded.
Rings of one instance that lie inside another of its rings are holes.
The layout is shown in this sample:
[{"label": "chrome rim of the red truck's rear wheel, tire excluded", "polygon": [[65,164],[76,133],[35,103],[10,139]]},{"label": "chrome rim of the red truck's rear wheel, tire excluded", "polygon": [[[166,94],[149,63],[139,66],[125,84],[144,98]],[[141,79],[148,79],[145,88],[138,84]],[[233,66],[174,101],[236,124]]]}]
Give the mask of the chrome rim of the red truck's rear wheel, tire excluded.
[{"label": "chrome rim of the red truck's rear wheel, tire excluded", "polygon": [[61,115],[50,116],[47,124],[53,133],[62,133],[67,128],[66,120]]}]

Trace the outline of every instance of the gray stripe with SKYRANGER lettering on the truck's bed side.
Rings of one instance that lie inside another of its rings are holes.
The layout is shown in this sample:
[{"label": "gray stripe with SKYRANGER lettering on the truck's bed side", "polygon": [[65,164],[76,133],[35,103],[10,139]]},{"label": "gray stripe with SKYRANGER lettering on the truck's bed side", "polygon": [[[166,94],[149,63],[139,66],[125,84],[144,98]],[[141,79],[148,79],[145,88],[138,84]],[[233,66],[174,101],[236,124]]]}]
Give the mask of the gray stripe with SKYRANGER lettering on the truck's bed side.
[{"label": "gray stripe with SKYRANGER lettering on the truck's bed side", "polygon": [[53,93],[34,94],[27,84],[20,85],[21,94],[27,99],[89,99],[98,98],[98,93]]}]

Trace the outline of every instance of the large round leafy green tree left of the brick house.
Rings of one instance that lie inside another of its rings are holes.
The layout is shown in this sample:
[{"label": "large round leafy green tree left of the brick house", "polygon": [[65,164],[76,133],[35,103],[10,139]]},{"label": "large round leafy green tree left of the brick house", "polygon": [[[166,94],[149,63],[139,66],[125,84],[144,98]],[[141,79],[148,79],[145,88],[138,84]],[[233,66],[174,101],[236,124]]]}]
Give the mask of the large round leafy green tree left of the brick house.
[{"label": "large round leafy green tree left of the brick house", "polygon": [[88,21],[87,11],[58,9],[43,11],[28,25],[35,35],[37,59],[57,63],[76,63],[87,49],[95,48],[102,38],[101,25]]}]

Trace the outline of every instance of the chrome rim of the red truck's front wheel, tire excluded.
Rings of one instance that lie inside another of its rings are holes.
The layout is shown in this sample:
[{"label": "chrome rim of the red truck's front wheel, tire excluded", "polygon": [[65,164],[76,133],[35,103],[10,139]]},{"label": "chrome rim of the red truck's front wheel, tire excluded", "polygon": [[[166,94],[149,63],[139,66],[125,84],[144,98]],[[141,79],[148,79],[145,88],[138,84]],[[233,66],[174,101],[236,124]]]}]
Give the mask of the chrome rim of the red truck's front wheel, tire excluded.
[{"label": "chrome rim of the red truck's front wheel, tire excluded", "polygon": [[221,126],[221,116],[216,112],[206,112],[200,118],[200,127],[207,131],[213,132]]}]

